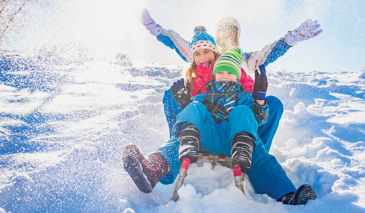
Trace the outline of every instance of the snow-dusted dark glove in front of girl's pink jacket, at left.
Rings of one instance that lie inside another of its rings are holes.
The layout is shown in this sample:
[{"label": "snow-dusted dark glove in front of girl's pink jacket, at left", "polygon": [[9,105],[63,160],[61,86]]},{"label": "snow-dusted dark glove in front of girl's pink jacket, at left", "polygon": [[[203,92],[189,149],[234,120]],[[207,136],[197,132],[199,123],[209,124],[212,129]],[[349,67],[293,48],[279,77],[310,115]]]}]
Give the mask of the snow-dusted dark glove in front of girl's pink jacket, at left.
[{"label": "snow-dusted dark glove in front of girl's pink jacket, at left", "polygon": [[174,82],[171,86],[172,95],[178,104],[185,108],[189,103],[193,102],[190,98],[190,83],[186,83],[186,87],[184,84],[184,79],[178,80]]}]

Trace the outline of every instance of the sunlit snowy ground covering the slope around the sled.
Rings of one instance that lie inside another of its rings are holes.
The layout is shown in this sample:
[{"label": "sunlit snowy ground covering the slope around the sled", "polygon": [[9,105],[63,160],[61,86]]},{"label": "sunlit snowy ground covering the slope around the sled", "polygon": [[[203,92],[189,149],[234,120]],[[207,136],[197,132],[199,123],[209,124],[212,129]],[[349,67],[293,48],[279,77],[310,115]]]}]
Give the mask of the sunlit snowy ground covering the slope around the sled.
[{"label": "sunlit snowy ground covering the slope around the sled", "polygon": [[283,205],[248,182],[243,195],[231,169],[201,159],[171,202],[174,184],[141,193],[120,151],[132,142],[148,153],[169,139],[162,97],[183,67],[42,54],[0,56],[0,212],[365,212],[359,72],[268,67],[268,93],[285,109],[270,154],[318,199]]}]

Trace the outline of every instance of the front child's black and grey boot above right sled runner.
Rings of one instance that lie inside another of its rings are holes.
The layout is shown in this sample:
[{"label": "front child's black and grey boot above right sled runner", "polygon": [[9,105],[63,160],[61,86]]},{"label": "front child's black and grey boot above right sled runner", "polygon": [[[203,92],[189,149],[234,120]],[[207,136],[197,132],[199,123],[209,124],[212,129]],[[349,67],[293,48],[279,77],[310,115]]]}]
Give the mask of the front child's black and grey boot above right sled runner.
[{"label": "front child's black and grey boot above right sled runner", "polygon": [[237,133],[233,138],[231,155],[233,165],[240,165],[241,172],[247,172],[251,168],[251,154],[255,148],[252,136],[246,132]]}]

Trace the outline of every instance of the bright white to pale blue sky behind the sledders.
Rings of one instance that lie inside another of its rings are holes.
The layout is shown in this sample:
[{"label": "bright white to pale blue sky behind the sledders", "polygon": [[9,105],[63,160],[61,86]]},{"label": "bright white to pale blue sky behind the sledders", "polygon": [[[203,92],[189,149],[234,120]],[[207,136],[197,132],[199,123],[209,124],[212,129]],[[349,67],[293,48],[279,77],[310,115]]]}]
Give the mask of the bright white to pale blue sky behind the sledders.
[{"label": "bright white to pale blue sky behind the sledders", "polygon": [[73,11],[43,20],[48,23],[33,26],[27,36],[30,45],[23,48],[78,41],[95,48],[101,58],[126,53],[132,60],[189,65],[138,22],[138,11],[147,8],[155,22],[188,41],[195,26],[205,26],[214,35],[219,19],[234,16],[241,26],[240,43],[245,52],[260,50],[312,18],[322,25],[323,33],[292,47],[268,69],[361,71],[365,66],[365,1],[361,0],[77,1],[80,14]]}]

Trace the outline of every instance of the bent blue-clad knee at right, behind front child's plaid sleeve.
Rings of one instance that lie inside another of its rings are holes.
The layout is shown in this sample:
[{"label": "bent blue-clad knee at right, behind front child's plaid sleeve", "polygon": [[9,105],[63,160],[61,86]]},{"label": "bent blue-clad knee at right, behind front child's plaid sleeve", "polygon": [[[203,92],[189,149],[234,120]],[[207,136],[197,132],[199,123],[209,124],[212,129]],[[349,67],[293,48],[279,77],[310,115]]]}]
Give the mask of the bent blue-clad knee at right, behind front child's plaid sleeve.
[{"label": "bent blue-clad knee at right, behind front child's plaid sleeve", "polygon": [[266,101],[269,105],[270,115],[268,121],[257,128],[257,133],[262,142],[264,142],[266,151],[269,152],[277,127],[279,126],[281,115],[283,115],[284,108],[283,103],[281,103],[281,101],[275,96],[267,96]]}]

